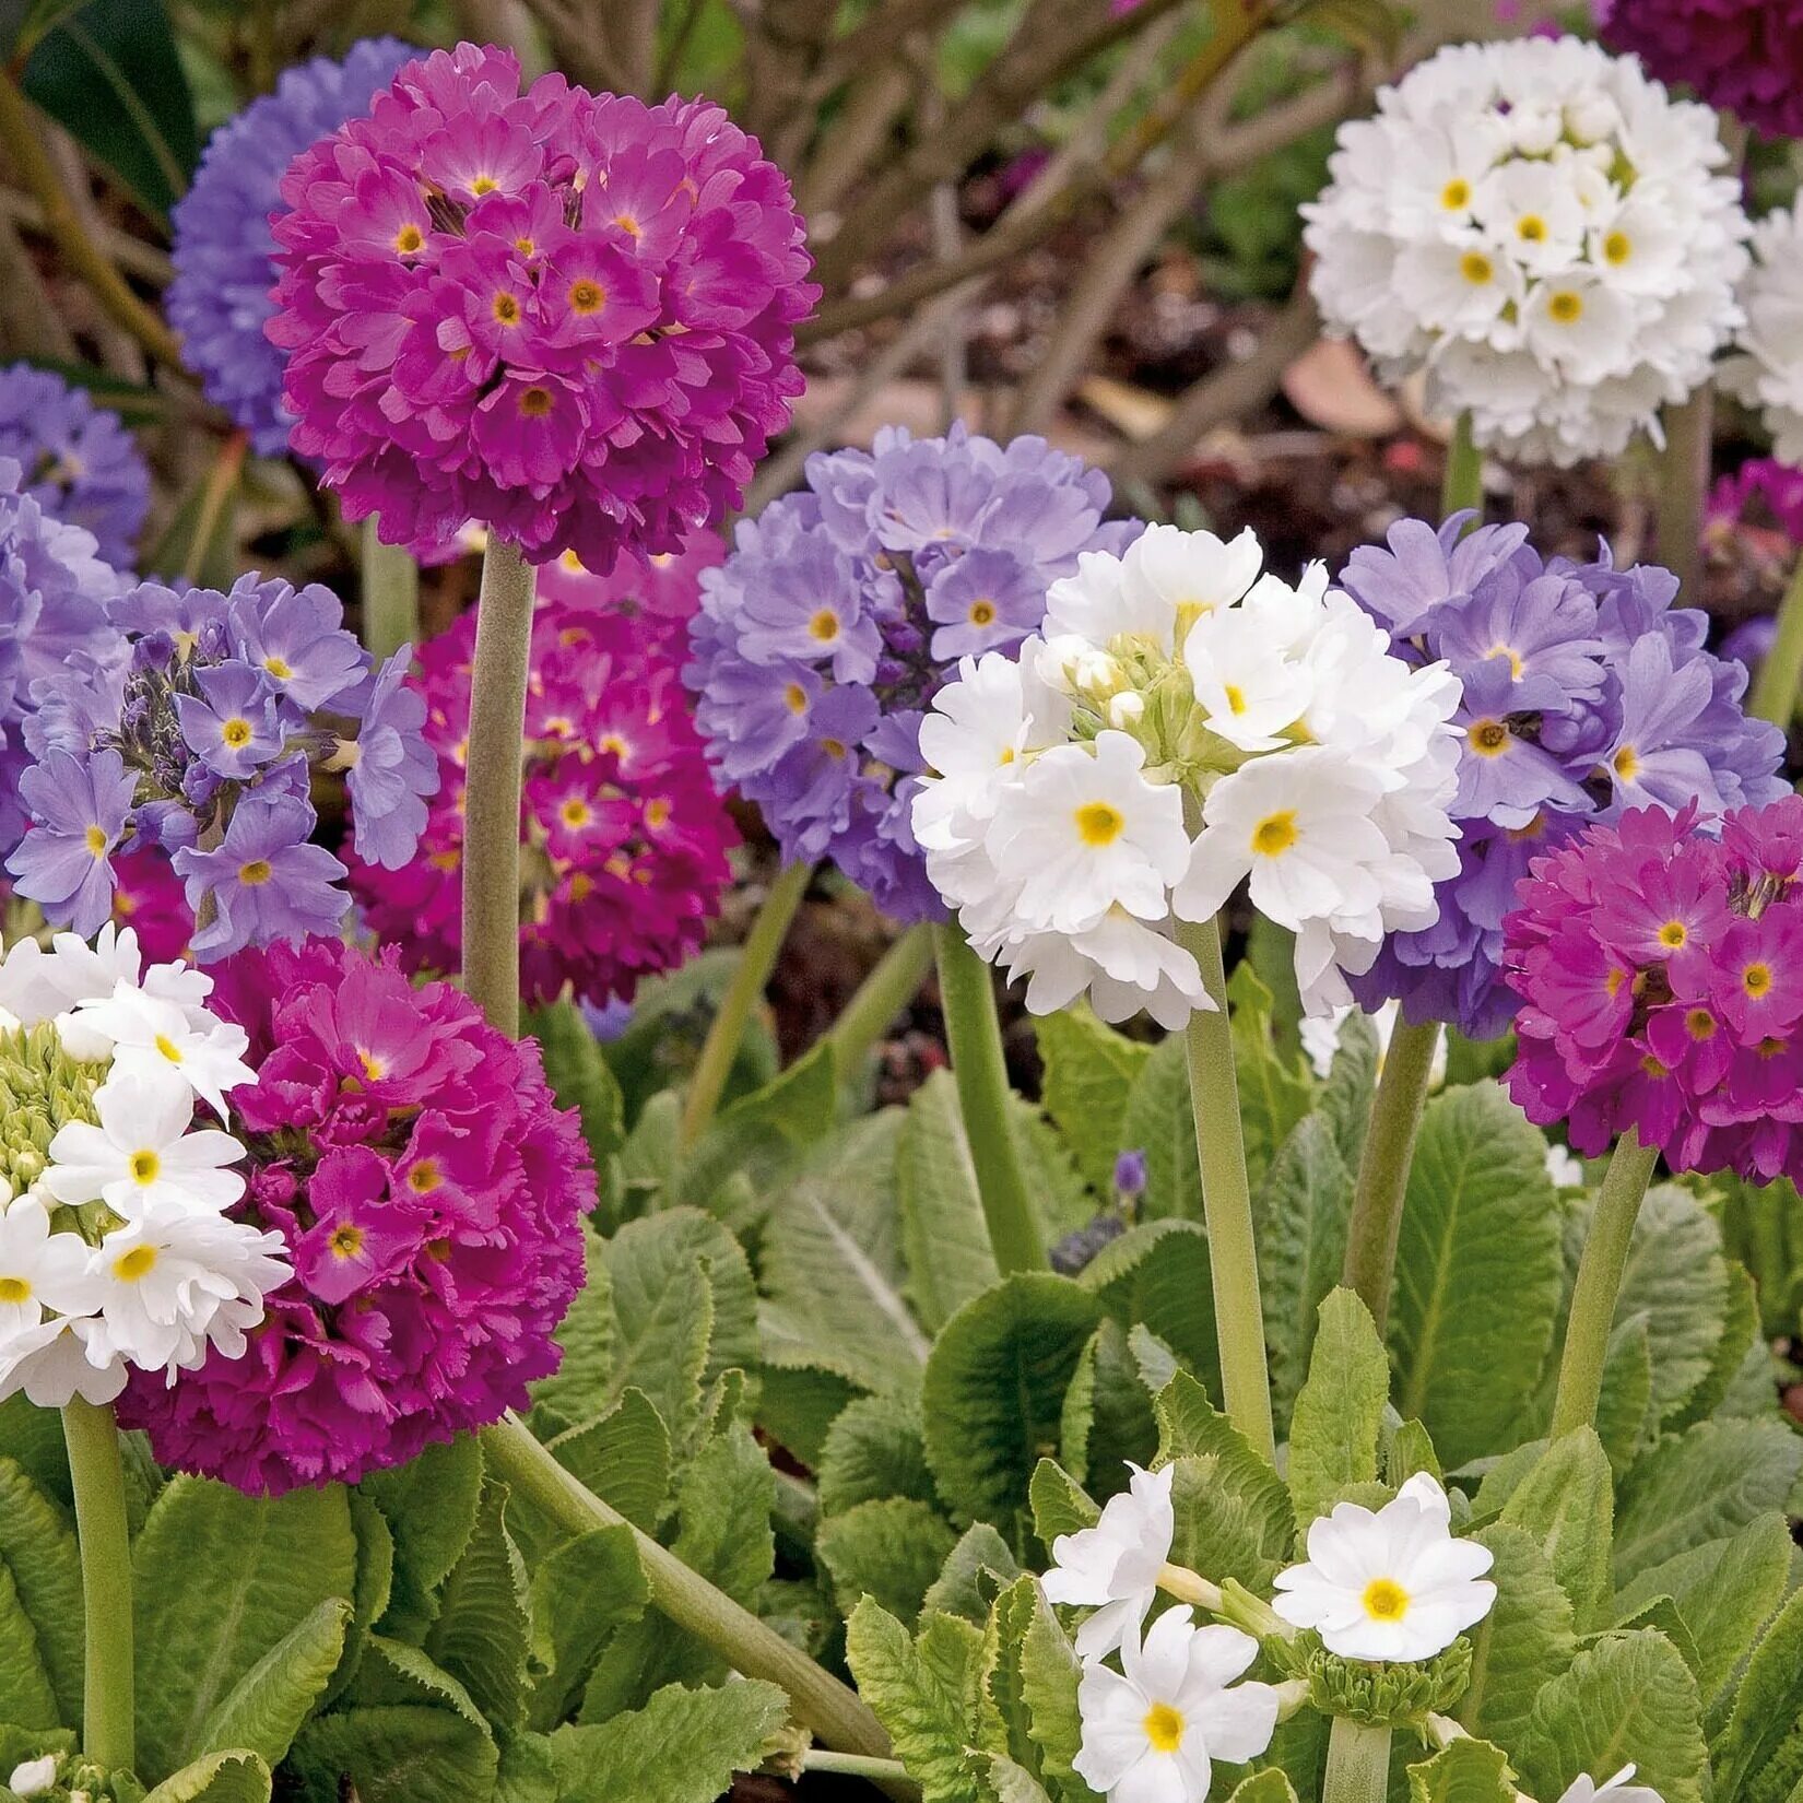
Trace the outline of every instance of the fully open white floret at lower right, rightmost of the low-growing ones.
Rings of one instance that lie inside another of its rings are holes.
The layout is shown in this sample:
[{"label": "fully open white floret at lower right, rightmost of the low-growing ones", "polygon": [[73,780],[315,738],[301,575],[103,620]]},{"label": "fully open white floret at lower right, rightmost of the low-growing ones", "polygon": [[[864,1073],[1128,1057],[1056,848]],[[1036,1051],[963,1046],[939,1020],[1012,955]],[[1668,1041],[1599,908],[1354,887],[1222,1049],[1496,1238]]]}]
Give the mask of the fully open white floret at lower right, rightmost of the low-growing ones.
[{"label": "fully open white floret at lower right, rightmost of the low-growing ones", "polygon": [[1489,1547],[1453,1538],[1446,1491],[1419,1473],[1381,1509],[1340,1502],[1318,1516],[1273,1606],[1345,1659],[1432,1659],[1489,1614]]}]

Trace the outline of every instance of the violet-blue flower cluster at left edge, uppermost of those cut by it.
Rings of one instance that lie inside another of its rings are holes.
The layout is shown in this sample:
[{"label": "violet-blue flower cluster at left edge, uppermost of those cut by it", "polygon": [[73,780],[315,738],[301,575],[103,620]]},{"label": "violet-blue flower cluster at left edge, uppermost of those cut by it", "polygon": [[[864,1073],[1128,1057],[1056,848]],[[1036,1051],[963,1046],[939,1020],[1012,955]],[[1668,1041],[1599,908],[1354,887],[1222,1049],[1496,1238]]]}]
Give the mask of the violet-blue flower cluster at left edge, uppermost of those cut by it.
[{"label": "violet-blue flower cluster at left edge, uppermost of those cut by it", "polygon": [[65,526],[94,534],[99,559],[130,570],[150,512],[150,469],[124,422],[50,370],[0,370],[0,458]]}]

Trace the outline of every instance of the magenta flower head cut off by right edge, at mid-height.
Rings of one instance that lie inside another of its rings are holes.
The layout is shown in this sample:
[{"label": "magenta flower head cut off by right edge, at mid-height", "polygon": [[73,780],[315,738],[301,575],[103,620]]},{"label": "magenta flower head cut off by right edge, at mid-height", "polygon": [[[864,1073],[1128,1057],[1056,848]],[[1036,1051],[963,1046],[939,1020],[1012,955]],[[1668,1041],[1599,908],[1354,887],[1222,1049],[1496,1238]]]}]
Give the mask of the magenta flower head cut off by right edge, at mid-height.
[{"label": "magenta flower head cut off by right edge, at mid-height", "polygon": [[1632,810],[1534,858],[1504,920],[1509,1093],[1587,1156],[1634,1130],[1673,1170],[1803,1177],[1803,797],[1720,840]]}]

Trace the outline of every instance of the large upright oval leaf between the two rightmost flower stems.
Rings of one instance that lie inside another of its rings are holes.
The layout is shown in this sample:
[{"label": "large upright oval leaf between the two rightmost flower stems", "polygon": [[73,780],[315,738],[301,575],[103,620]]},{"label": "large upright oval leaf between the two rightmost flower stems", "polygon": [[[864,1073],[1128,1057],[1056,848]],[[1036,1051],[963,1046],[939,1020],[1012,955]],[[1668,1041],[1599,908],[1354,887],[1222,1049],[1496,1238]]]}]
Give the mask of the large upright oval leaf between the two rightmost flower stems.
[{"label": "large upright oval leaf between the two rightmost flower stems", "polygon": [[1428,1103],[1390,1309],[1396,1406],[1448,1466],[1507,1446],[1552,1349],[1563,1293],[1545,1141],[1495,1084]]}]

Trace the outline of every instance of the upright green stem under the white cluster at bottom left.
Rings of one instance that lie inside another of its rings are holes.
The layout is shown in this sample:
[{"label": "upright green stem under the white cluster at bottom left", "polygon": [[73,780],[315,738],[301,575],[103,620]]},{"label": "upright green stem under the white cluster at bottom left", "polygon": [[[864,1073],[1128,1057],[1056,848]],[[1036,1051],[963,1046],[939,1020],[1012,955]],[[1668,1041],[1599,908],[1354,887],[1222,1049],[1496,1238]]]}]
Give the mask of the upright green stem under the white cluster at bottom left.
[{"label": "upright green stem under the white cluster at bottom left", "polygon": [[63,1408],[69,1477],[81,1540],[87,1673],[81,1751],[108,1771],[130,1771],[132,1738],[132,1538],[124,1522],[124,1468],[112,1408],[78,1396]]}]

